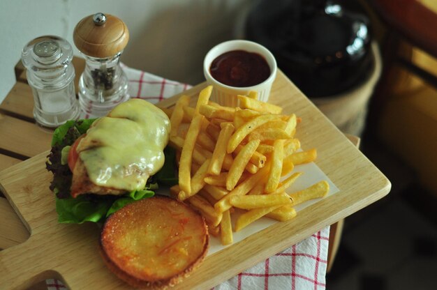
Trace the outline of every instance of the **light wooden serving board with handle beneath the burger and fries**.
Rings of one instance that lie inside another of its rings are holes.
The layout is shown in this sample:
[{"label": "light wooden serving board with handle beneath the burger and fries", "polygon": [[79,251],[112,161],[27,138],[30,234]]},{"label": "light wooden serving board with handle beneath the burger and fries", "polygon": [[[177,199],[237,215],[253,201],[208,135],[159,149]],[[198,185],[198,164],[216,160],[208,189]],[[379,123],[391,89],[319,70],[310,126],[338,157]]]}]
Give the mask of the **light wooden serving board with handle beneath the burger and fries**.
[{"label": "light wooden serving board with handle beneath the burger and fries", "polygon": [[[200,84],[184,94],[193,96],[195,102],[205,86]],[[172,107],[177,98],[159,106]],[[297,130],[302,148],[318,149],[316,164],[340,192],[299,211],[293,220],[277,222],[212,254],[175,289],[210,289],[390,191],[390,181],[281,72],[269,102],[283,107],[286,114],[302,117]],[[73,290],[129,289],[103,264],[96,224],[57,222],[54,194],[48,188],[52,174],[45,170],[47,153],[0,172],[0,190],[30,232],[24,243],[0,252],[0,289],[27,289],[53,277]]]}]

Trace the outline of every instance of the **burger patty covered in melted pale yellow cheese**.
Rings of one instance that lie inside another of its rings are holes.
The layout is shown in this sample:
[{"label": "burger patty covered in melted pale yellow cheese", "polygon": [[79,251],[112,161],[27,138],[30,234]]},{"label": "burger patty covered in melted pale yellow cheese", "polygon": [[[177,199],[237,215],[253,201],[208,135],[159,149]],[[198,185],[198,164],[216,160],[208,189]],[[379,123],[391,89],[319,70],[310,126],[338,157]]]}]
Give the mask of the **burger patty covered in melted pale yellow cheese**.
[{"label": "burger patty covered in melted pale yellow cheese", "polygon": [[164,164],[170,120],[151,103],[131,99],[96,120],[77,146],[89,179],[120,190],[142,190]]}]

